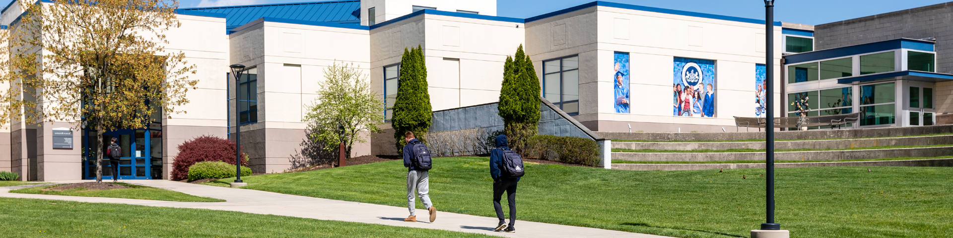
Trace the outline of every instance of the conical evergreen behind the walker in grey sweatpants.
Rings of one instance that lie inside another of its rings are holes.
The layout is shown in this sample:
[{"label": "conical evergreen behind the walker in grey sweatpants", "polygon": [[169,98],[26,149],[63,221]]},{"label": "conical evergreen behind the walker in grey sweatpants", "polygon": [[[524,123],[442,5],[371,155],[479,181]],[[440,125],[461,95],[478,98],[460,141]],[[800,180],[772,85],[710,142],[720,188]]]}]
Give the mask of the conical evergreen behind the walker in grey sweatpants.
[{"label": "conical evergreen behind the walker in grey sweatpants", "polygon": [[423,48],[417,46],[416,49],[404,49],[404,55],[400,57],[400,79],[397,81],[394,118],[391,120],[398,152],[402,152],[407,145],[403,139],[406,131],[414,131],[417,139],[426,141],[425,134],[430,129],[432,113]]}]

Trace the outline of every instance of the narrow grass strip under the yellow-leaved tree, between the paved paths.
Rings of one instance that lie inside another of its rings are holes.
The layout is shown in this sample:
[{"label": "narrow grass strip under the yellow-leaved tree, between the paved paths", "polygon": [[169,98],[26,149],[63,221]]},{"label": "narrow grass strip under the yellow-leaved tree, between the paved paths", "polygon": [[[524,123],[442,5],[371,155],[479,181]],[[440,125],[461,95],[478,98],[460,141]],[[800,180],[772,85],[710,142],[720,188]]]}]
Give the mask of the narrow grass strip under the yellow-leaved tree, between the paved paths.
[{"label": "narrow grass strip under the yellow-leaved tree, between the paved paths", "polygon": [[166,190],[162,188],[152,188],[145,186],[130,185],[124,183],[112,183],[124,185],[131,188],[109,189],[109,190],[89,190],[85,188],[71,188],[67,190],[43,190],[43,188],[52,188],[56,186],[46,186],[37,188],[20,188],[10,190],[15,193],[47,194],[47,195],[65,195],[82,197],[113,197],[113,198],[131,198],[146,199],[172,202],[225,202],[225,200],[209,197],[199,197],[182,192]]}]

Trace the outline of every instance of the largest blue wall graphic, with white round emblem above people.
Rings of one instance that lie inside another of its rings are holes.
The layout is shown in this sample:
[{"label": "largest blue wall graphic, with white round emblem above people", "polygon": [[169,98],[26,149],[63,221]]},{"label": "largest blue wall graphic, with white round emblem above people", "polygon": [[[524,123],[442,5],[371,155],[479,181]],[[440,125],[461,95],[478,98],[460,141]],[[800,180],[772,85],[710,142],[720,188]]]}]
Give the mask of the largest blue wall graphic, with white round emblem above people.
[{"label": "largest blue wall graphic, with white round emblem above people", "polygon": [[715,117],[715,61],[675,57],[672,115]]}]

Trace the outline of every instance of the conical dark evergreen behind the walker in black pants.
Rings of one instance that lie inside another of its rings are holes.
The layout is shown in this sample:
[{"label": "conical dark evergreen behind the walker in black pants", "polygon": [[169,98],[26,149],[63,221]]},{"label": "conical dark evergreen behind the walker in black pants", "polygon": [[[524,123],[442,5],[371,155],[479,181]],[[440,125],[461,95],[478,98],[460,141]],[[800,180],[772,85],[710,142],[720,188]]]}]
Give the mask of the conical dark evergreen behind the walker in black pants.
[{"label": "conical dark evergreen behind the walker in black pants", "polygon": [[507,56],[503,64],[503,86],[499,90],[497,106],[510,148],[519,153],[526,149],[529,138],[537,134],[539,91],[533,60],[519,45],[516,56]]}]

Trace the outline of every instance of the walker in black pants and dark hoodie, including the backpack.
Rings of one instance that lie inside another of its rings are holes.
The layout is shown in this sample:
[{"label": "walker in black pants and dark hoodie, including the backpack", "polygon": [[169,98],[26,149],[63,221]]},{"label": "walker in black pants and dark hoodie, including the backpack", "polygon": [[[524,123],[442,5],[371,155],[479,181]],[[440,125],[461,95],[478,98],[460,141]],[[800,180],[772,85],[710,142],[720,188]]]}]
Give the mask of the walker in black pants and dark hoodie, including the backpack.
[{"label": "walker in black pants and dark hoodie, including the backpack", "polygon": [[[516,152],[506,147],[506,135],[497,135],[496,144],[497,149],[490,151],[490,176],[493,177],[493,208],[497,210],[497,218],[499,218],[499,224],[494,230],[517,232],[514,224],[517,222],[517,182],[519,182],[518,176],[522,176],[522,160]],[[513,158],[513,156],[516,156],[516,158]],[[504,163],[504,160],[508,160],[507,163]],[[512,165],[516,163],[518,165]],[[507,166],[518,169],[519,174],[516,177],[512,174],[504,174],[503,169],[511,170]],[[507,204],[510,206],[509,225],[506,225],[503,207],[499,204],[504,191],[506,192]]]}]

